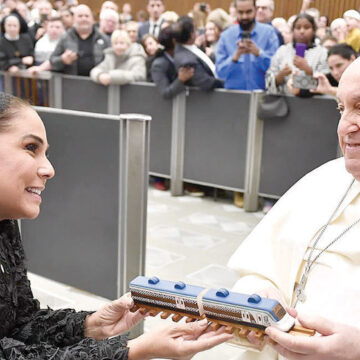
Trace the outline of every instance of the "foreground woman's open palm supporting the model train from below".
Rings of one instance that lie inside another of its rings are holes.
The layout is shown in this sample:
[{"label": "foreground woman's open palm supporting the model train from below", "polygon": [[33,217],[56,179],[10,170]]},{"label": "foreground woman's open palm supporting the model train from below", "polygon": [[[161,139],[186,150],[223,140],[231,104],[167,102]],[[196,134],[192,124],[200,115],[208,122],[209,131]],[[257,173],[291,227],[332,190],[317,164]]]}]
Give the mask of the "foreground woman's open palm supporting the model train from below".
[{"label": "foreground woman's open palm supporting the model train from below", "polygon": [[206,319],[188,324],[171,324],[130,340],[129,360],[189,360],[196,353],[232,337],[232,334],[225,333],[225,327],[209,331]]}]

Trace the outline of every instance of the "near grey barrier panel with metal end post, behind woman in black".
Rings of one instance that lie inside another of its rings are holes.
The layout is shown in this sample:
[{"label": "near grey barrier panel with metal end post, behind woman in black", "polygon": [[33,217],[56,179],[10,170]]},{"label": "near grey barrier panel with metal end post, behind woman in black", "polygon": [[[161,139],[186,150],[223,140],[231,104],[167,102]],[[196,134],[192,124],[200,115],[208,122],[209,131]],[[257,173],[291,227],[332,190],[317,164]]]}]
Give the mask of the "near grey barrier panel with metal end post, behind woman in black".
[{"label": "near grey barrier panel with metal end post, behind woman in black", "polygon": [[29,269],[116,298],[145,271],[150,118],[35,109],[56,176],[22,221]]}]

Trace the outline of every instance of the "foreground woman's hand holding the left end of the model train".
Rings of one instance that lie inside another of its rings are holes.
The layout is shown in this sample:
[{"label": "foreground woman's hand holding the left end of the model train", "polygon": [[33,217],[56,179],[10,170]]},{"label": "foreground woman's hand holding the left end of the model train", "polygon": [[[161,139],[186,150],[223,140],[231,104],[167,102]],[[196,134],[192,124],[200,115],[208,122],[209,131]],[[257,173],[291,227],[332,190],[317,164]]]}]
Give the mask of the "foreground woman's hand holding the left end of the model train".
[{"label": "foreground woman's hand holding the left end of the model train", "polygon": [[145,317],[139,310],[130,312],[133,305],[134,301],[127,293],[89,315],[84,324],[85,337],[101,340],[129,330]]}]

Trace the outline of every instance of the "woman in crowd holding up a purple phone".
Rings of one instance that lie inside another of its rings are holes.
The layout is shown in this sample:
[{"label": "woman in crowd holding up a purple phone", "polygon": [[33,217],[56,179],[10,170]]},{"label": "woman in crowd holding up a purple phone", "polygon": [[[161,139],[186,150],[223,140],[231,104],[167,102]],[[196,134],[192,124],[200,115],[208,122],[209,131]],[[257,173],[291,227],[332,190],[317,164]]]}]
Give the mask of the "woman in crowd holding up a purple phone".
[{"label": "woman in crowd holding up a purple phone", "polygon": [[[266,88],[272,94],[289,94],[309,96],[309,91],[296,89],[292,86],[290,75],[307,76],[315,72],[328,73],[326,62],[327,50],[315,44],[316,24],[308,14],[298,15],[293,23],[293,42],[282,45],[271,59],[271,65],[266,73]],[[305,56],[296,55],[297,43],[306,45]]]}]

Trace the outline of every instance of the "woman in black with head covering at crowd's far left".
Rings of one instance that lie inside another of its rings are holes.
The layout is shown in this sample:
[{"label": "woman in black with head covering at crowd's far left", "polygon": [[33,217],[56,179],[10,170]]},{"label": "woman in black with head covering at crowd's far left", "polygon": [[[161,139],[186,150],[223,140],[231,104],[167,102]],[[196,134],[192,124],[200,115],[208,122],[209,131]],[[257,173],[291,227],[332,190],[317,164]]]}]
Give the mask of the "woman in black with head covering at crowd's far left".
[{"label": "woman in black with head covering at crowd's far left", "polygon": [[34,62],[34,46],[28,34],[20,34],[20,22],[14,15],[4,19],[5,33],[0,39],[0,70],[16,72]]}]

